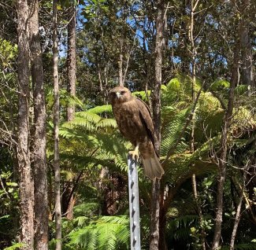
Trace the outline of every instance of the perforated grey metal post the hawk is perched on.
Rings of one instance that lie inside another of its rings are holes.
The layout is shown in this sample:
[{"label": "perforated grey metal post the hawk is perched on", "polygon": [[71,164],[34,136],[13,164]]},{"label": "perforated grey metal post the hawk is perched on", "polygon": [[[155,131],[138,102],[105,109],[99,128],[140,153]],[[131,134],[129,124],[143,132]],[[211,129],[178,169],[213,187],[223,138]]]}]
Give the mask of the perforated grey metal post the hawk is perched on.
[{"label": "perforated grey metal post the hawk is perched on", "polygon": [[140,250],[138,161],[128,155],[131,250]]}]

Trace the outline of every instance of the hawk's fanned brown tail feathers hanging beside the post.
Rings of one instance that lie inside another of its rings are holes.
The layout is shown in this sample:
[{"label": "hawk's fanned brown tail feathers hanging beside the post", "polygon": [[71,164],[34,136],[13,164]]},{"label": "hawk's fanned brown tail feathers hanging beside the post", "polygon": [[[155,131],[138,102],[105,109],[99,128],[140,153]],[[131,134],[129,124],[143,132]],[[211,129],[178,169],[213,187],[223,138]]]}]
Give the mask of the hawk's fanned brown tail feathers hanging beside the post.
[{"label": "hawk's fanned brown tail feathers hanging beside the post", "polygon": [[152,158],[143,159],[143,167],[144,174],[151,180],[154,180],[154,178],[161,179],[161,175],[165,174],[156,153]]}]

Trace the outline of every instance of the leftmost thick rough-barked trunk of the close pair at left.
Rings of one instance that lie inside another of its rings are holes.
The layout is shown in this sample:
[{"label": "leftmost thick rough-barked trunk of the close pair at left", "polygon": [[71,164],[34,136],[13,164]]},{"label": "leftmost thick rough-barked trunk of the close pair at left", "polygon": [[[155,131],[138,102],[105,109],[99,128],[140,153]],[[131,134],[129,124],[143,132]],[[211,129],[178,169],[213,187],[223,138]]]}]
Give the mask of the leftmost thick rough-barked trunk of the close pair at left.
[{"label": "leftmost thick rough-barked trunk of the close pair at left", "polygon": [[34,183],[29,151],[29,31],[28,2],[17,0],[18,34],[18,120],[17,163],[20,182],[20,241],[23,249],[34,246]]}]

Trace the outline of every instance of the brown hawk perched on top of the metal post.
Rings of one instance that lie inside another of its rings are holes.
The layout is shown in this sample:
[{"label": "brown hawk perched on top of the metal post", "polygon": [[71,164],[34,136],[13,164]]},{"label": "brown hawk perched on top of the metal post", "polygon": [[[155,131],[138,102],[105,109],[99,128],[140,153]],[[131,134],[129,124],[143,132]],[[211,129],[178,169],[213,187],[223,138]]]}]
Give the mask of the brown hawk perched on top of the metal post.
[{"label": "brown hawk perched on top of the metal post", "polygon": [[117,86],[110,90],[109,101],[117,120],[117,127],[132,145],[132,158],[142,156],[144,174],[151,180],[160,179],[165,173],[154,147],[154,125],[150,109],[139,98],[133,97],[130,90]]}]

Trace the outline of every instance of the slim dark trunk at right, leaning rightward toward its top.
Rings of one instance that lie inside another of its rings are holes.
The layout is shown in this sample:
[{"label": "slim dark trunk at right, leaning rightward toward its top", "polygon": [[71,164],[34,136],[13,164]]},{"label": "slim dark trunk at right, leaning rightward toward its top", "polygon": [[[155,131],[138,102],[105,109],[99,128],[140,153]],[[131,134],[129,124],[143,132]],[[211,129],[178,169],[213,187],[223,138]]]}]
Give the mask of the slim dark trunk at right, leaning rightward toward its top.
[{"label": "slim dark trunk at right, leaning rightward toward its top", "polygon": [[[240,31],[240,24],[238,25],[238,34]],[[239,51],[240,42],[237,38],[236,46],[234,50],[233,64],[232,64],[232,78],[230,84],[230,90],[228,95],[228,108],[224,115],[222,134],[221,134],[221,155],[218,161],[218,176],[217,176],[217,212],[215,219],[215,228],[213,235],[213,250],[220,248],[221,240],[221,225],[222,225],[222,213],[223,213],[223,193],[224,182],[226,178],[226,166],[227,166],[227,149],[228,149],[228,128],[231,124],[233,105],[234,105],[234,90],[239,79]]]}]

